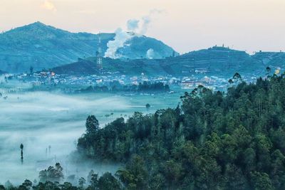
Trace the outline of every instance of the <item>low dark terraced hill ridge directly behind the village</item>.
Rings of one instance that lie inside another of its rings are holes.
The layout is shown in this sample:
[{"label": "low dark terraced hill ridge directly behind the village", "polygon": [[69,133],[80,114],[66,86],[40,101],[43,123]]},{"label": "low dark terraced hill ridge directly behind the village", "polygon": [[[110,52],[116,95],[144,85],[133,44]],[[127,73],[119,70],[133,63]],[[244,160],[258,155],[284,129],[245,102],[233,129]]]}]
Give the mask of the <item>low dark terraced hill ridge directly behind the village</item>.
[{"label": "low dark terraced hill ridge directly behind the village", "polygon": [[[242,75],[262,75],[267,66],[272,69],[284,68],[285,53],[260,52],[250,56],[245,51],[214,46],[165,59],[103,59],[104,70],[124,75],[145,73],[147,75],[189,76],[201,73],[202,75],[230,77],[236,72]],[[71,75],[98,73],[94,57],[63,65],[53,70],[59,74]]]}]

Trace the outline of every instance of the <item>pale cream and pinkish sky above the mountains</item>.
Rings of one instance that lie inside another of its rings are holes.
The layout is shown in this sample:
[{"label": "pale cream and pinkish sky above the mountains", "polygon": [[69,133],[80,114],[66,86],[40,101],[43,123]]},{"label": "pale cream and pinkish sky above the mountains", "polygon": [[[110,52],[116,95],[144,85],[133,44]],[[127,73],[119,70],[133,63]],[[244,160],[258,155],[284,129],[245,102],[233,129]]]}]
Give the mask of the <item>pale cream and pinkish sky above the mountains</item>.
[{"label": "pale cream and pinkish sky above the mountains", "polygon": [[285,51],[285,0],[0,0],[0,31],[41,21],[67,31],[111,33],[152,14],[146,36],[180,53],[229,46]]}]

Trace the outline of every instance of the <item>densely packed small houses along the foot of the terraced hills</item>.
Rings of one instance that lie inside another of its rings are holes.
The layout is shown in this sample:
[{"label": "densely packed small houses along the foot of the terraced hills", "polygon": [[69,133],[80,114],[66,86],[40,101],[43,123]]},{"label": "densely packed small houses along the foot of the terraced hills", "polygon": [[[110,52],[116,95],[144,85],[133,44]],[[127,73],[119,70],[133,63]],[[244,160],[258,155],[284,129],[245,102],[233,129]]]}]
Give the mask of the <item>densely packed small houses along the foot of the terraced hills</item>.
[{"label": "densely packed small houses along the foot of the terraced hills", "polygon": [[[32,74],[13,75],[13,79],[21,81],[21,83],[28,83],[33,87],[43,86],[58,86],[70,85],[73,87],[87,86],[87,85],[110,85],[111,83],[120,83],[120,85],[139,85],[140,83],[164,83],[170,85],[170,88],[175,86],[181,90],[191,90],[198,88],[200,85],[212,90],[226,90],[229,87],[227,78],[218,78],[216,76],[205,75],[191,75],[183,77],[174,77],[172,75],[165,76],[147,76],[144,73],[136,76],[115,75],[110,73],[108,75],[58,75],[53,71],[41,71]],[[247,79],[246,79],[247,80]],[[249,78],[254,80],[254,78]],[[248,82],[248,81],[247,81]]]}]

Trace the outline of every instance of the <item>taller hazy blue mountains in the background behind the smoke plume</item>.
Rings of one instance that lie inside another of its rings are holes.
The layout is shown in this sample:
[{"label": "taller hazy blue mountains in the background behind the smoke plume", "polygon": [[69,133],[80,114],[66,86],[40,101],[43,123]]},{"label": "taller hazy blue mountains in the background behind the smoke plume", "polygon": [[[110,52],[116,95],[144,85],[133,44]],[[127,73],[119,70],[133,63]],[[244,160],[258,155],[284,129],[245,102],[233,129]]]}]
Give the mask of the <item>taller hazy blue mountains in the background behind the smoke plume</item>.
[{"label": "taller hazy blue mountains in the background behind the smoke plume", "polygon": [[[115,33],[100,33],[102,51]],[[76,61],[78,58],[95,56],[98,35],[71,33],[41,22],[14,28],[0,34],[0,69],[10,73],[43,68],[54,68]],[[172,56],[174,50],[155,38],[135,36],[118,52],[126,59],[146,58],[152,49],[155,58]],[[176,53],[176,52],[175,52]]]}]

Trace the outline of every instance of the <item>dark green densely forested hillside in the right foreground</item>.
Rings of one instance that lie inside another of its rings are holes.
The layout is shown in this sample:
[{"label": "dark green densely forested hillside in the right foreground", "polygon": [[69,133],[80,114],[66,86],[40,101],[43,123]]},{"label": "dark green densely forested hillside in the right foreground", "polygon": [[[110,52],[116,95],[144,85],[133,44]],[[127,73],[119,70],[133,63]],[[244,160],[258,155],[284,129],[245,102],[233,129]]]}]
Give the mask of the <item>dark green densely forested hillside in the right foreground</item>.
[{"label": "dark green densely forested hillside in the right foreground", "polygon": [[127,189],[285,189],[285,75],[227,94],[197,88],[175,109],[135,112],[78,139],[90,159],[123,162]]}]

